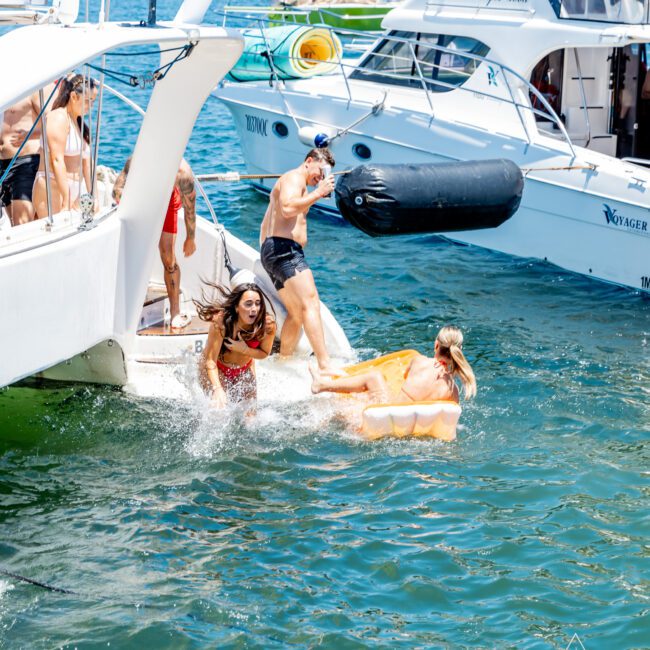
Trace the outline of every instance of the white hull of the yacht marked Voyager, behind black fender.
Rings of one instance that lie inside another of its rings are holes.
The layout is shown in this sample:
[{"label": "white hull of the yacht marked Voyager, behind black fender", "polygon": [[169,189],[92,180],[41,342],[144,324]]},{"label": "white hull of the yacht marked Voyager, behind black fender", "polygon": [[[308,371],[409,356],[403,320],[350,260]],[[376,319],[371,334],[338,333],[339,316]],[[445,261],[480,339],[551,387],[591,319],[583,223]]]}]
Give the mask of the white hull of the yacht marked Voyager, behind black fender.
[{"label": "white hull of the yacht marked Voyager, behind black fender", "polygon": [[[291,88],[280,94],[254,84],[215,91],[233,115],[249,173],[282,173],[304,159],[308,148],[287,117],[287,105],[301,127],[330,134],[353,123],[372,105],[326,94],[336,85],[324,86],[323,95],[292,93]],[[268,129],[249,129],[251,117]],[[275,133],[279,121],[287,126],[284,137]],[[565,143],[550,137],[526,143],[496,128],[486,132],[397,104],[370,117],[363,128],[334,140],[331,148],[337,170],[367,162],[358,157],[359,151],[370,152],[370,160],[377,164],[508,158],[525,174],[514,216],[497,228],[446,233],[446,238],[650,290],[650,171],[642,167],[578,147],[572,158]],[[264,179],[256,187],[270,191],[272,184]],[[318,207],[338,215],[331,198]]]}]

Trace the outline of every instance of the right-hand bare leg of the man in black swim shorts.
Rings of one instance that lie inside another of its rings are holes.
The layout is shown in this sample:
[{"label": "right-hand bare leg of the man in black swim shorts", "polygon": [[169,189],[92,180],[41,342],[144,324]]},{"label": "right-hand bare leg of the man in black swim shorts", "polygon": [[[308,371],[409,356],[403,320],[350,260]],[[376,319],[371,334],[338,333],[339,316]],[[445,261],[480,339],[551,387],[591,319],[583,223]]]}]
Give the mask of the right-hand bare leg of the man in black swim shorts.
[{"label": "right-hand bare leg of the man in black swim shorts", "polygon": [[[284,296],[287,297],[285,305],[299,306],[300,319],[305,328],[305,334],[309,339],[311,348],[314,351],[318,367],[320,370],[330,370],[330,356],[325,347],[325,336],[323,334],[323,323],[320,317],[320,300],[318,298],[318,291],[314,283],[314,276],[310,269],[299,271],[293,277],[286,280],[284,283],[284,292],[280,294],[283,300]],[[294,312],[296,307],[294,308]],[[287,306],[287,310],[289,307]],[[282,328],[282,335],[284,335],[284,328]],[[297,343],[294,342],[294,349]]]}]

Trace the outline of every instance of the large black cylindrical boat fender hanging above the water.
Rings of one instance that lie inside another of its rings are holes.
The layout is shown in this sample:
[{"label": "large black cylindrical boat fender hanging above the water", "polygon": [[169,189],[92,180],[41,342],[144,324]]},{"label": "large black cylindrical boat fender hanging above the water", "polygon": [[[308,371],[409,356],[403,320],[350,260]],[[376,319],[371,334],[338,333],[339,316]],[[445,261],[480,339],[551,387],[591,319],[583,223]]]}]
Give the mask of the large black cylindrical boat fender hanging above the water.
[{"label": "large black cylindrical boat fender hanging above the water", "polygon": [[505,158],[360,165],[341,175],[336,205],[353,226],[378,235],[496,228],[519,207],[524,178]]}]

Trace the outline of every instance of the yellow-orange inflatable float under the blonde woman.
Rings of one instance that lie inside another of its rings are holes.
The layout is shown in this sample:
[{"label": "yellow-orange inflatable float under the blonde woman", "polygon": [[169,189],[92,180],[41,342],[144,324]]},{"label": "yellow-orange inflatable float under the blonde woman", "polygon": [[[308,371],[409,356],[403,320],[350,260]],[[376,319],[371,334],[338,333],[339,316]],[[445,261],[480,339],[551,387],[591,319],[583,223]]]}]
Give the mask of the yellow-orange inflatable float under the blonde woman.
[{"label": "yellow-orange inflatable float under the blonde woman", "polygon": [[[418,352],[401,350],[345,368],[348,375],[379,370],[392,394],[404,383],[406,369]],[[411,402],[409,404],[370,404],[363,410],[361,432],[370,439],[384,436],[428,436],[454,440],[461,408],[456,402]]]}]

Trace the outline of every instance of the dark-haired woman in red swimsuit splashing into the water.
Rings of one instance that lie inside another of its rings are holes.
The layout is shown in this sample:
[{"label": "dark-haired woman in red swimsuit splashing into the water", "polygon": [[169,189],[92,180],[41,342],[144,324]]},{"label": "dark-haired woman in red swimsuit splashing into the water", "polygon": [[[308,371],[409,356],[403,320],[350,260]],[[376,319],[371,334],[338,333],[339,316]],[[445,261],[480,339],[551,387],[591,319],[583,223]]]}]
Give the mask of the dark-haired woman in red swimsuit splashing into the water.
[{"label": "dark-haired woman in red swimsuit splashing into the water", "polygon": [[228,401],[257,398],[254,359],[266,359],[275,338],[275,319],[266,312],[271,305],[256,284],[240,284],[232,291],[207,283],[217,298],[194,301],[199,318],[211,323],[201,355],[199,382],[222,408]]}]

